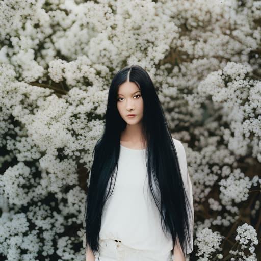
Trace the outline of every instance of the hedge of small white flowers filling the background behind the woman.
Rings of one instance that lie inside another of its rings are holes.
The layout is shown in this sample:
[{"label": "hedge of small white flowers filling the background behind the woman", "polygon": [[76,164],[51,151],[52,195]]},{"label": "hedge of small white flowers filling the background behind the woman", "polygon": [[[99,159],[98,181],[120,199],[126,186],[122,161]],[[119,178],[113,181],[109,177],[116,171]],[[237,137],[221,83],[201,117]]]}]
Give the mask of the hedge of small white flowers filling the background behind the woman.
[{"label": "hedge of small white flowers filling the background behind the woman", "polygon": [[144,67],[187,152],[191,260],[261,258],[261,2],[0,2],[0,259],[85,260],[91,152]]}]

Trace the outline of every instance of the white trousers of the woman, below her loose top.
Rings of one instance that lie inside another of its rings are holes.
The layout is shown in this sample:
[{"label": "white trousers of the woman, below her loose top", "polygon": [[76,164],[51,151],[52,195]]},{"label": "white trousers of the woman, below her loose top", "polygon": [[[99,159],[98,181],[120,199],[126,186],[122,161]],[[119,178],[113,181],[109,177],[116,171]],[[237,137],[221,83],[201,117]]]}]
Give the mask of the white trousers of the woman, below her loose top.
[{"label": "white trousers of the woman, below her loose top", "polygon": [[100,251],[94,253],[95,261],[171,261],[172,252],[138,250],[125,246],[113,239],[100,240]]}]

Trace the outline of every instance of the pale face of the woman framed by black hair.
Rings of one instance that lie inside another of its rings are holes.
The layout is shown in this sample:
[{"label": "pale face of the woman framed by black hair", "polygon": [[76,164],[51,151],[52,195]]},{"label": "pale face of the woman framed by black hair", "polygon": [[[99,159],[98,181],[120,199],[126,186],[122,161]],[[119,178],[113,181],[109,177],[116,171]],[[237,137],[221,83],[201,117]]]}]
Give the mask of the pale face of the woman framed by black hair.
[{"label": "pale face of the woman framed by black hair", "polygon": [[[129,125],[142,121],[143,99],[141,91],[134,82],[125,82],[118,88],[117,109],[121,118]],[[129,117],[128,114],[136,116]]]}]

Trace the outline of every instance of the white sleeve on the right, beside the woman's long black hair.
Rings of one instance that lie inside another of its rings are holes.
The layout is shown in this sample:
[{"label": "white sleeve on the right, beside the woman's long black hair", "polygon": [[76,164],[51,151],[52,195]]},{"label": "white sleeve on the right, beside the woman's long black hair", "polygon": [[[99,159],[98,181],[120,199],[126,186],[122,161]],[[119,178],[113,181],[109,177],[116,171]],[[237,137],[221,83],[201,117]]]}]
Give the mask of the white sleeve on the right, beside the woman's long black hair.
[{"label": "white sleeve on the right, beside the woman's long black hair", "polygon": [[187,158],[186,158],[186,152],[184,149],[184,146],[179,140],[176,140],[174,138],[173,142],[177,151],[177,156],[178,156],[178,163],[179,163],[179,168],[182,176],[182,180],[184,183],[184,187],[186,190],[186,193],[188,195],[189,203],[191,206],[192,210],[192,217],[189,218],[190,220],[190,231],[191,231],[191,238],[190,242],[188,244],[188,249],[186,254],[190,254],[193,251],[193,230],[194,230],[194,207],[193,207],[193,191],[192,191],[192,182],[188,173],[188,166],[187,166]]}]

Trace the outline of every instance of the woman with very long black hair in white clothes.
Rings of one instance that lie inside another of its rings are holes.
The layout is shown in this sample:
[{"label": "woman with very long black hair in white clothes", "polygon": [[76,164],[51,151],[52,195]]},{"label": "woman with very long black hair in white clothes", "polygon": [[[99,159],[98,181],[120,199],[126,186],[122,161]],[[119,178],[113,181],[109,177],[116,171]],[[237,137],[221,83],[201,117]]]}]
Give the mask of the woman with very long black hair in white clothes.
[{"label": "woman with very long black hair in white clothes", "polygon": [[86,202],[86,260],[185,260],[194,208],[186,154],[172,138],[140,66],[113,78],[94,148]]}]

